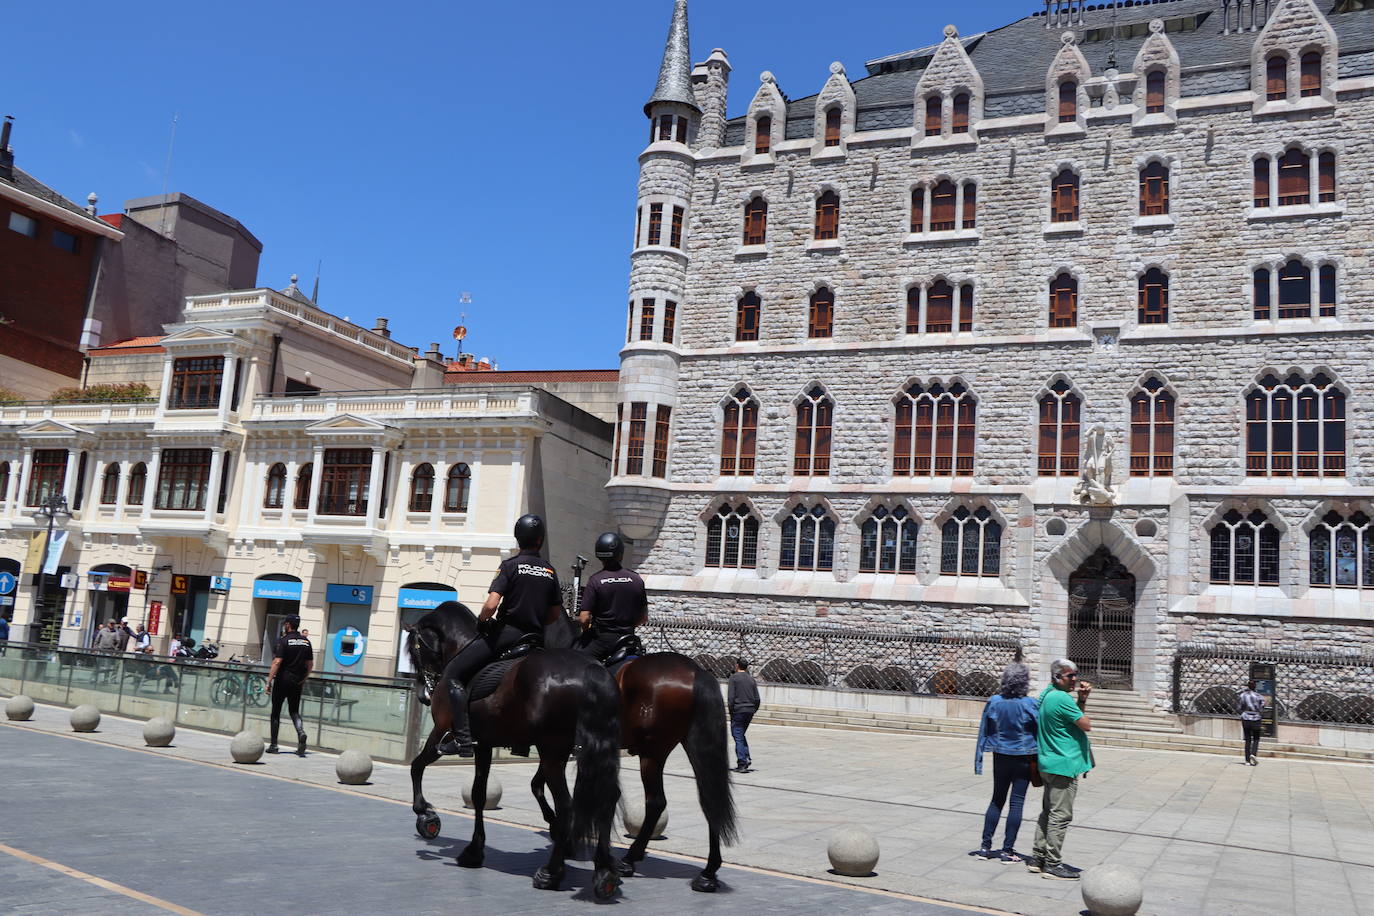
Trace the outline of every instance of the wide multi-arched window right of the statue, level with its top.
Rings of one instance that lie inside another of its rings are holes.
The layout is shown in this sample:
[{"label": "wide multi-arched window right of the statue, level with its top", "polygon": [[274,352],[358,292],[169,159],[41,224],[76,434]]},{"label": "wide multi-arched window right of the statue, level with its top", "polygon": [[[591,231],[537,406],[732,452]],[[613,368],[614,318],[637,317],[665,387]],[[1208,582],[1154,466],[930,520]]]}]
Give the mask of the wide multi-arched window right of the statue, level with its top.
[{"label": "wide multi-arched window right of the statue, level with its top", "polygon": [[1245,396],[1249,477],[1344,477],[1345,393],[1325,372],[1270,374]]}]

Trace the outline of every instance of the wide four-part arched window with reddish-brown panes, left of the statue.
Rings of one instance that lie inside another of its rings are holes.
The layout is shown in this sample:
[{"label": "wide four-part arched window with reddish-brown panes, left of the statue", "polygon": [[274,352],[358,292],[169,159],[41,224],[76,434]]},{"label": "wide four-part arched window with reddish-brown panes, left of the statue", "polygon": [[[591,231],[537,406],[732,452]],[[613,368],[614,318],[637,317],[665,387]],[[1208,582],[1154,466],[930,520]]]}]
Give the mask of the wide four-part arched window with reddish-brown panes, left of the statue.
[{"label": "wide four-part arched window with reddish-brown panes, left of the statue", "polygon": [[894,409],[893,475],[973,477],[978,398],[963,383],[912,383]]}]

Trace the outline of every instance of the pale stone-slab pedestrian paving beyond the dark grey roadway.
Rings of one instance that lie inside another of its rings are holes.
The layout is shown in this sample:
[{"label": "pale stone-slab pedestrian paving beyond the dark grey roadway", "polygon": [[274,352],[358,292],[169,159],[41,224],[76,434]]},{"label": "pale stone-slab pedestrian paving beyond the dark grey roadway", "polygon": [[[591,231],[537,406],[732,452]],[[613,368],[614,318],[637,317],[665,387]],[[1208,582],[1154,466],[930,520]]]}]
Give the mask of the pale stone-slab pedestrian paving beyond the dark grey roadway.
[{"label": "pale stone-slab pedestrian paving beyond the dark grey roadway", "polygon": [[[67,714],[40,706],[25,728],[70,733]],[[107,715],[89,737],[142,747],[142,722]],[[754,726],[750,744],[757,769],[734,777],[742,840],[725,850],[727,862],[1033,916],[1083,909],[1076,882],[967,856],[992,786],[989,776],[973,776],[967,739]],[[153,753],[234,766],[228,739],[187,729],[177,732],[176,747]],[[1374,768],[1268,759],[1249,768],[1239,754],[1117,748],[1101,748],[1096,758],[1079,790],[1065,857],[1081,868],[1116,862],[1142,872],[1142,913],[1305,913],[1319,902],[1327,913],[1374,916]],[[240,769],[337,786],[334,759],[264,757],[262,766]],[[625,792],[639,797],[636,761],[622,762]],[[495,769],[504,797],[493,817],[541,825],[528,791],[533,770],[526,762]],[[705,823],[682,754],[669,773],[668,839],[651,843],[650,854],[703,856]],[[436,808],[458,809],[469,777],[466,766],[430,768],[426,797]],[[372,786],[359,788],[408,805],[408,768],[378,764]],[[1022,851],[1033,840],[1039,798],[1032,788],[1017,842]],[[414,816],[397,806],[396,818],[409,824]],[[445,821],[445,832],[466,832],[452,816]],[[826,845],[842,824],[878,836],[875,878],[827,873]]]}]

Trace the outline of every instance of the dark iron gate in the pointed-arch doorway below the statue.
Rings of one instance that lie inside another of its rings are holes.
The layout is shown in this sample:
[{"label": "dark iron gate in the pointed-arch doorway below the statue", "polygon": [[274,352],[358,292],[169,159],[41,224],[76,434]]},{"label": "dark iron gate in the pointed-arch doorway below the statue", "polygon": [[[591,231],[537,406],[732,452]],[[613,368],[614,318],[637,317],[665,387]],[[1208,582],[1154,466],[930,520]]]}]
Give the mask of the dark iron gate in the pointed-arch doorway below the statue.
[{"label": "dark iron gate in the pointed-arch doorway below the statue", "polygon": [[1069,659],[1099,687],[1131,688],[1135,577],[1099,547],[1069,577]]}]

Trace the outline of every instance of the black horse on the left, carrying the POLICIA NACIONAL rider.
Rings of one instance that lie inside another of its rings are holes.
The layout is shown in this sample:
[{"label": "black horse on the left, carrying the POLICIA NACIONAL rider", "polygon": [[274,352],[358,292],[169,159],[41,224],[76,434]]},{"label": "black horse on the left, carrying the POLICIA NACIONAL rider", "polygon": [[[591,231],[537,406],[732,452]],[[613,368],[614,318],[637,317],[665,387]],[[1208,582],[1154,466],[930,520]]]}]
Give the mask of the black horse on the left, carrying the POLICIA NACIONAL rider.
[{"label": "black horse on the left, carrying the POLICIA NACIONAL rider", "polygon": [[[452,718],[448,691],[436,672],[475,637],[477,618],[463,604],[445,602],[422,617],[405,639],[405,650],[419,681],[420,700],[430,705],[434,729],[411,762],[412,810],[420,836],[438,835],[440,820],[425,801],[420,777],[438,759],[436,750],[448,733]],[[477,740],[473,776],[473,808],[477,812],[473,839],[459,853],[458,864],[481,868],[486,831],[482,806],[493,747],[539,748],[539,773],[554,795],[548,818],[552,849],[548,864],[534,872],[534,887],[556,890],[563,880],[563,860],[580,842],[595,842],[592,893],[598,900],[614,895],[620,886],[616,860],[610,854],[610,828],[620,801],[620,732],[617,714],[620,691],[598,663],[570,650],[543,650],[518,661],[502,677],[489,696],[470,705],[473,737]],[[567,759],[577,747],[577,780],[567,791]]]}]

